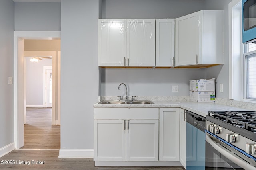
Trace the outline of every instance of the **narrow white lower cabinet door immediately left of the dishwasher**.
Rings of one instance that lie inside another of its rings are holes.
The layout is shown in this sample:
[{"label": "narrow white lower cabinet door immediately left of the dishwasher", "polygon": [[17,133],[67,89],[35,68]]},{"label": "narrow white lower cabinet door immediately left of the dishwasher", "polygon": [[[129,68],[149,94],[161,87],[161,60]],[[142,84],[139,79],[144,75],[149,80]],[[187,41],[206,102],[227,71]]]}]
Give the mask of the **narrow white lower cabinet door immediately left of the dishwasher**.
[{"label": "narrow white lower cabinet door immediately left of the dishwasher", "polygon": [[186,168],[186,111],[180,109],[180,163]]}]

